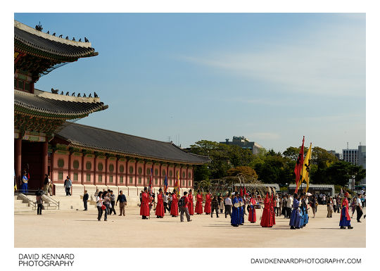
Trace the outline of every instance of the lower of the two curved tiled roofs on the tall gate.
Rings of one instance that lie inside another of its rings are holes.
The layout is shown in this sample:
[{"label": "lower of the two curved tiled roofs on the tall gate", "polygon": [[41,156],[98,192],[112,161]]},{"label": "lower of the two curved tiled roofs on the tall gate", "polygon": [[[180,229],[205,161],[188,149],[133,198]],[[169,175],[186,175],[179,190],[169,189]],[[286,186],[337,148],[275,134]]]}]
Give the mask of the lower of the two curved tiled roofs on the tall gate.
[{"label": "lower of the two curved tiled roofs on the tall gate", "polygon": [[[108,106],[94,99],[72,99],[54,94],[55,99],[15,90],[15,111],[33,113],[34,115],[50,115],[56,118],[82,118],[89,113],[102,111]],[[74,98],[74,97],[73,97]]]}]

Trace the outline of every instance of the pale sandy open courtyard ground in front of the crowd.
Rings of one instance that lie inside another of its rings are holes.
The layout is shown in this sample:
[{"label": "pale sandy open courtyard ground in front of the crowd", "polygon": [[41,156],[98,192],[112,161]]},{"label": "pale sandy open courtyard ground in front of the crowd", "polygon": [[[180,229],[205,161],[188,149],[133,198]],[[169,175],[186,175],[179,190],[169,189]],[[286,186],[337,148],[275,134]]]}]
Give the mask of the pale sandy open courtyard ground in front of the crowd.
[{"label": "pale sandy open courtyard ground in front of the crowd", "polygon": [[[126,216],[109,215],[96,220],[97,210],[49,210],[42,215],[15,214],[15,247],[365,247],[366,220],[339,229],[338,213],[326,218],[326,206],[318,206],[316,218],[303,229],[289,229],[289,219],[276,218],[272,228],[258,222],[232,227],[229,218],[193,215],[191,222],[179,222],[167,215],[141,220],[139,208],[127,208]],[[364,213],[366,211],[364,210]],[[233,242],[231,242],[233,240]],[[303,240],[303,241],[300,241]],[[343,244],[344,240],[344,244]]]}]

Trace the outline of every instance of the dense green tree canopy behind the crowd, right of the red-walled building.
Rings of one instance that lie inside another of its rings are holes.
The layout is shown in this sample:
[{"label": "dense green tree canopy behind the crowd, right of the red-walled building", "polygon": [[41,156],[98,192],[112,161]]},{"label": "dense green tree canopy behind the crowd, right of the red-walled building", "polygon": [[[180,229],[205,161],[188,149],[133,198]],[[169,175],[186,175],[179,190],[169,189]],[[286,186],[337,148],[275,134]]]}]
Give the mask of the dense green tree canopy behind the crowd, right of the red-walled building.
[{"label": "dense green tree canopy behind the crowd, right of the red-walled building", "polygon": [[[194,182],[222,179],[239,173],[253,177],[264,183],[282,185],[295,183],[294,167],[300,153],[300,146],[289,146],[283,153],[260,149],[253,154],[240,146],[221,144],[215,141],[201,140],[190,146],[191,153],[208,156],[211,162],[194,168]],[[308,147],[304,148],[304,155]],[[365,169],[357,165],[338,160],[327,150],[312,147],[311,184],[337,184],[344,186],[355,175],[359,181],[365,177]]]}]

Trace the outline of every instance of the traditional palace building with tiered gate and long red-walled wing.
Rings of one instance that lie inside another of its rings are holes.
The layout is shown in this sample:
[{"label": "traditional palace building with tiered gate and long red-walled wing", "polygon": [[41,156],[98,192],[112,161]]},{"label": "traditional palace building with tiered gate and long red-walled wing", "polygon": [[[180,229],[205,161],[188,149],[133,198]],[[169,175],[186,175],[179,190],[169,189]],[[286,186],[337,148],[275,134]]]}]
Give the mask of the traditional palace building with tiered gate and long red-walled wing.
[{"label": "traditional palace building with tiered gate and long red-walled wing", "polygon": [[[153,187],[175,185],[179,175],[182,189],[193,187],[194,165],[210,160],[187,153],[171,142],[80,125],[73,120],[108,108],[94,93],[75,95],[34,88],[37,80],[55,68],[80,58],[97,56],[91,43],[56,33],[42,32],[15,20],[14,25],[14,130],[15,178],[30,174],[30,189],[39,189],[49,174],[55,194],[63,195],[66,176],[72,180],[72,194],[82,195],[96,188],[126,190],[139,194],[153,172]],[[151,171],[152,169],[152,171]]]}]

